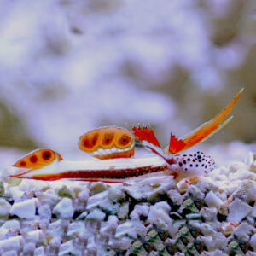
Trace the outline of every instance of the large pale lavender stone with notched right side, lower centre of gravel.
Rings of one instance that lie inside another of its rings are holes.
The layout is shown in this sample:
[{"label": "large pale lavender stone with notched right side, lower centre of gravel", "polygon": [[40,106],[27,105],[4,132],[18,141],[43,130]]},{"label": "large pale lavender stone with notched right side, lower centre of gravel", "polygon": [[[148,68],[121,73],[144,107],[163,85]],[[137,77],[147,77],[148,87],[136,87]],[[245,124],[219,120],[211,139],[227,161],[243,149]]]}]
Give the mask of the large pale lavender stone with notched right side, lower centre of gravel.
[{"label": "large pale lavender stone with notched right side, lower centre of gravel", "polygon": [[169,216],[171,207],[165,202],[160,201],[149,208],[148,222],[156,224],[163,230],[168,230],[172,226],[172,218]]}]

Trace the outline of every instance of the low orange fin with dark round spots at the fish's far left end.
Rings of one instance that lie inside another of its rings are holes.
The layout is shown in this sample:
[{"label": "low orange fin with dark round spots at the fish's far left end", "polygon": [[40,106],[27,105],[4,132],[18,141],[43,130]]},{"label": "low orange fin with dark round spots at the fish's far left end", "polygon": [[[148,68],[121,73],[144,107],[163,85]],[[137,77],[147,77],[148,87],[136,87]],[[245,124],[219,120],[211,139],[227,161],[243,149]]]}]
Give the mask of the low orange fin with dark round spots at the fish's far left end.
[{"label": "low orange fin with dark round spots at the fish's far left end", "polygon": [[26,154],[20,158],[20,160],[17,160],[13,166],[30,169],[30,171],[32,171],[41,169],[44,166],[49,166],[54,161],[61,160],[63,160],[61,154],[49,148],[42,148]]}]

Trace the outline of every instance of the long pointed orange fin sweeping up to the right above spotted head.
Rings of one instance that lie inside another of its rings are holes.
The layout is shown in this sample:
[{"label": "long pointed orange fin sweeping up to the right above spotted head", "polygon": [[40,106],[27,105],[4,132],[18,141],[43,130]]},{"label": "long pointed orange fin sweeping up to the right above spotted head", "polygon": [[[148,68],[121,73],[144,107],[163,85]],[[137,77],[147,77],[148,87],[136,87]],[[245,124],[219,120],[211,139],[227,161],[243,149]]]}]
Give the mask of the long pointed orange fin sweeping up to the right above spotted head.
[{"label": "long pointed orange fin sweeping up to the right above spotted head", "polygon": [[[173,145],[170,144],[169,147],[165,148],[165,153],[168,154],[168,152],[170,152],[171,154],[176,154],[177,152],[191,148],[195,144],[207,140],[207,138],[211,137],[214,133],[216,133],[225,125],[227,125],[233,117],[231,116],[229,119],[226,119],[225,121],[223,120],[230,113],[231,109],[234,108],[234,106],[236,105],[236,102],[240,98],[242,91],[243,88],[237,93],[237,95],[233,98],[230,104],[226,108],[224,108],[224,110],[222,110],[220,113],[218,113],[218,115],[215,118],[204,123],[203,125],[196,128],[194,131],[191,131],[189,132],[189,134],[182,137],[180,140],[182,140],[183,143],[185,144],[183,148],[180,148],[179,151],[172,153],[172,151],[169,151],[169,148],[173,148]],[[171,140],[170,143],[172,142],[176,143],[175,140]]]}]

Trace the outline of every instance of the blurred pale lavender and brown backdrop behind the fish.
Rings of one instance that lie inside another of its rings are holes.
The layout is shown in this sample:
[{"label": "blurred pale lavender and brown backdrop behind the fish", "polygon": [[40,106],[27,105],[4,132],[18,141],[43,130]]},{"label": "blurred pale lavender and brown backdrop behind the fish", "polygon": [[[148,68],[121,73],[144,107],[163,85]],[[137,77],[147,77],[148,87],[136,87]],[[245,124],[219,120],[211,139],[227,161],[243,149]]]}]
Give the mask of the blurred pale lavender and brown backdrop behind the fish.
[{"label": "blurred pale lavender and brown backdrop behind the fish", "polygon": [[105,125],[150,124],[166,145],[241,87],[235,118],[207,143],[255,143],[255,60],[253,0],[1,0],[2,158],[82,154],[79,136]]}]

